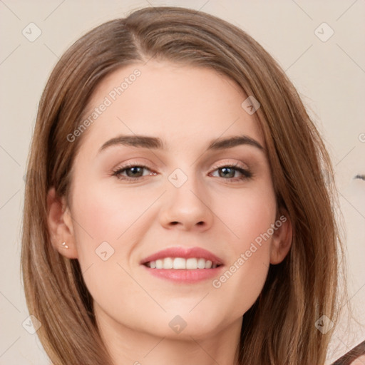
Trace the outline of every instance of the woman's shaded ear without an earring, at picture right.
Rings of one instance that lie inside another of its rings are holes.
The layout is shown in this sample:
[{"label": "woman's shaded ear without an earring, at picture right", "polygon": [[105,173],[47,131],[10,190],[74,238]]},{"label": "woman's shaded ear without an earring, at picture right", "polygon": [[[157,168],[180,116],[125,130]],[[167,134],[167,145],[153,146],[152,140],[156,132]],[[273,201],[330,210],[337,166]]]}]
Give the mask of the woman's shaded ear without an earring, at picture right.
[{"label": "woman's shaded ear without an earring, at picture right", "polygon": [[292,222],[286,210],[277,216],[270,247],[270,264],[279,264],[287,256],[292,246]]}]

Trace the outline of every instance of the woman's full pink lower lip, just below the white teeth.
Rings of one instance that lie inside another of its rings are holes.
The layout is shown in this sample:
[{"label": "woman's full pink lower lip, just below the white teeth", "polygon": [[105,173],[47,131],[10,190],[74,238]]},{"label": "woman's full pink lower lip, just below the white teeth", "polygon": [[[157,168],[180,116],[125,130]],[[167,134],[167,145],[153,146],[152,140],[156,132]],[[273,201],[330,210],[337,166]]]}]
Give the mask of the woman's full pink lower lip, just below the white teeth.
[{"label": "woman's full pink lower lip, just below the white teeth", "polygon": [[186,284],[194,284],[203,280],[212,279],[221,271],[222,266],[215,269],[151,269],[145,265],[146,270],[155,277],[167,279],[172,282],[184,282]]}]

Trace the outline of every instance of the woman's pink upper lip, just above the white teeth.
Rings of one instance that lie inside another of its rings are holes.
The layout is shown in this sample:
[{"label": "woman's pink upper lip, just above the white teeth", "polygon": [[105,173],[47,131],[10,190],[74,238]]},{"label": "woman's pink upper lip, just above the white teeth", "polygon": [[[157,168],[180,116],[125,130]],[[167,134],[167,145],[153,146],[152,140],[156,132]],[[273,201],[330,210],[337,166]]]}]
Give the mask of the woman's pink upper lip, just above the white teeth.
[{"label": "woman's pink upper lip, just above the white teeth", "polygon": [[183,257],[189,259],[191,257],[203,258],[210,260],[213,264],[223,264],[222,259],[201,247],[170,247],[165,250],[158,251],[153,255],[145,257],[140,264],[156,261],[157,259],[165,259],[165,257]]}]

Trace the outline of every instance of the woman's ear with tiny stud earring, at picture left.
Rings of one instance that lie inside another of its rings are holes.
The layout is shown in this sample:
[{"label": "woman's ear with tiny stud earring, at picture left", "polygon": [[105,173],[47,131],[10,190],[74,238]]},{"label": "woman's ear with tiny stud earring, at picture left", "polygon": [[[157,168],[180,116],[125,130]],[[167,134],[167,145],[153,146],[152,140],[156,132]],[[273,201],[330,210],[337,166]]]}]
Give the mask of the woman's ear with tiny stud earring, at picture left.
[{"label": "woman's ear with tiny stud earring, at picture left", "polygon": [[[71,212],[65,197],[57,197],[56,190],[51,187],[47,195],[48,230],[53,247],[68,259],[77,259],[76,240],[73,234]],[[65,242],[63,244],[63,242]]]}]

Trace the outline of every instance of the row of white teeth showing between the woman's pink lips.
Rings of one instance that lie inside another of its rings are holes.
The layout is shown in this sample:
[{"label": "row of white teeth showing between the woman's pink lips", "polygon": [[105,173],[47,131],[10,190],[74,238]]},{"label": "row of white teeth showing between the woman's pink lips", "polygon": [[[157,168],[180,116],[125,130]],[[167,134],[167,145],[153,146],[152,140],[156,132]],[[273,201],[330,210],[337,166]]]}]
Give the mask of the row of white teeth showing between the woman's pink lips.
[{"label": "row of white teeth showing between the woman's pink lips", "polygon": [[192,257],[184,259],[183,257],[166,257],[165,259],[156,259],[147,263],[151,269],[215,269],[217,263],[212,263],[209,259]]}]

